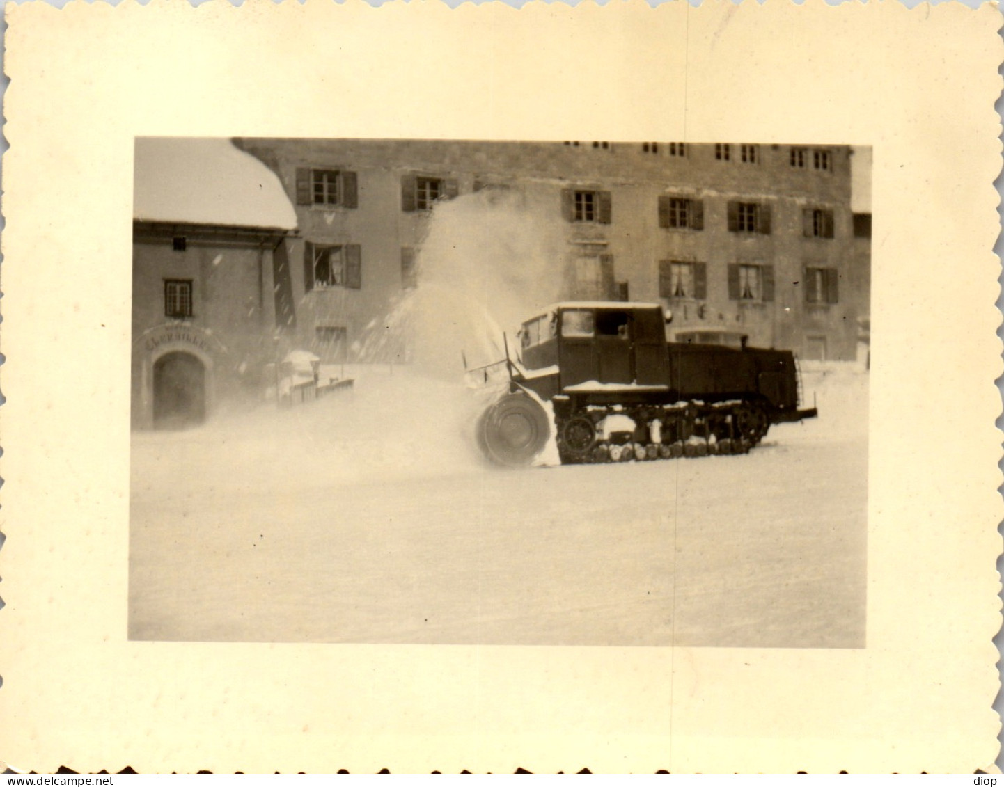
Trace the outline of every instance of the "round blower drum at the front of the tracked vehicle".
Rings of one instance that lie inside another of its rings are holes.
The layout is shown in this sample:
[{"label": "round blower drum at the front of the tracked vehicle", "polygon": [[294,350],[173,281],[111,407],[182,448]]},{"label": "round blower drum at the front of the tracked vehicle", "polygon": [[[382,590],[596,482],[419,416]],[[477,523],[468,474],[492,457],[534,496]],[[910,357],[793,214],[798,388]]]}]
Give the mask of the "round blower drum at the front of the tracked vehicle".
[{"label": "round blower drum at the front of the tracked vehicle", "polygon": [[489,407],[476,426],[478,447],[503,467],[530,465],[550,434],[547,414],[525,394],[507,394]]}]

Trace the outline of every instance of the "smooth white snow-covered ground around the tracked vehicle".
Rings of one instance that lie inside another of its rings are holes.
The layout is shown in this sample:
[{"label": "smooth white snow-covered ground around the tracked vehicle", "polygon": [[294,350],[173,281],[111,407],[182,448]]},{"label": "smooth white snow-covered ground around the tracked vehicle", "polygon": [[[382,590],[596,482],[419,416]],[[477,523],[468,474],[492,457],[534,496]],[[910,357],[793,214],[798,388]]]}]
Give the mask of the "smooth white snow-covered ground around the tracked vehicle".
[{"label": "smooth white snow-covered ground around the tracked vehicle", "polygon": [[749,455],[499,470],[406,367],[135,433],[133,638],[860,647],[867,375]]}]

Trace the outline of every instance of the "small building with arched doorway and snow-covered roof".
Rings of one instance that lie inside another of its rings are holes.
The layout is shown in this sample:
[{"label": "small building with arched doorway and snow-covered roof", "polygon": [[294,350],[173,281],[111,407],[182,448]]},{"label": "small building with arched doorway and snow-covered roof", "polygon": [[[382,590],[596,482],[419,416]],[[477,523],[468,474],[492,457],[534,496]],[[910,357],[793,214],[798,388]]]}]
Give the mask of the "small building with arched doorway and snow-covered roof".
[{"label": "small building with arched doorway and snow-covered roof", "polygon": [[133,427],[260,398],[295,325],[275,175],[228,140],[138,139],[133,215]]}]

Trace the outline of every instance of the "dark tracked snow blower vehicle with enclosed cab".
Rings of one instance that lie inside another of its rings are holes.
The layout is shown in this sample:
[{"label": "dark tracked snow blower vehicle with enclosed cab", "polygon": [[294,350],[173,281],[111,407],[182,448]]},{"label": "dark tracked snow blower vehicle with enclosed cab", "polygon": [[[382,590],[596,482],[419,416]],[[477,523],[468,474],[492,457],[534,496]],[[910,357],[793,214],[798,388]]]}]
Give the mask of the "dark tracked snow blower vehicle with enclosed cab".
[{"label": "dark tracked snow blower vehicle with enclosed cab", "polygon": [[558,303],[527,320],[520,353],[469,369],[469,384],[497,385],[477,427],[494,463],[532,464],[551,434],[562,464],[745,454],[772,424],[799,410],[786,350],[667,341],[662,306]]}]

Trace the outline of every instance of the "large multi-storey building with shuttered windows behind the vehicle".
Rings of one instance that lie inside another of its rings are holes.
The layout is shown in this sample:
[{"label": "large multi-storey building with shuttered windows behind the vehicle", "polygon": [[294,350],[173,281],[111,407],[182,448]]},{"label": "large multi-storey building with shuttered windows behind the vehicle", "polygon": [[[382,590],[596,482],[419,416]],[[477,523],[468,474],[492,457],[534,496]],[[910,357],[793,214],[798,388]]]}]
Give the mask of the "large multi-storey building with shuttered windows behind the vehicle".
[{"label": "large multi-storey building with shuttered windows behind the vehicle", "polygon": [[566,241],[563,297],[658,301],[673,331],[855,358],[868,260],[855,246],[848,146],[234,144],[295,205],[288,325],[326,360],[355,359],[364,327],[416,284],[433,207],[485,187],[543,195],[536,204]]}]

